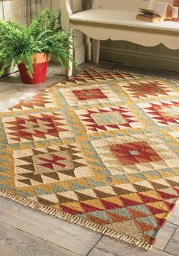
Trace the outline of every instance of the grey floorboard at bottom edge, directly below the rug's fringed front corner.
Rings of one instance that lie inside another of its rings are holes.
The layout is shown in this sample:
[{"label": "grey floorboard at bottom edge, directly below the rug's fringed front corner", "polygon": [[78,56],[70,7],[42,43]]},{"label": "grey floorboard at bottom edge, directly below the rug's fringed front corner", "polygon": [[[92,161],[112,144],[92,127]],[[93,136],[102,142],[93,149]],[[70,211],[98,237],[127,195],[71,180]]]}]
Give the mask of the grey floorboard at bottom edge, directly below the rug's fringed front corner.
[{"label": "grey floorboard at bottom edge, directly below the rug's fringed front corner", "polygon": [[103,236],[88,256],[171,256],[171,254],[155,248],[145,251],[126,242]]}]

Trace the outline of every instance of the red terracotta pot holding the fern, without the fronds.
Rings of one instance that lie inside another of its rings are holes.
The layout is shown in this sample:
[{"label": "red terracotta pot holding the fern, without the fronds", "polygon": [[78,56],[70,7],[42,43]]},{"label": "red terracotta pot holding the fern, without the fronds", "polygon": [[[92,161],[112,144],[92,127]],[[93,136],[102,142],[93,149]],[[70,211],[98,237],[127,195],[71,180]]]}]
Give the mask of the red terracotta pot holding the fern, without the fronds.
[{"label": "red terracotta pot holding the fern, without the fronds", "polygon": [[34,59],[36,59],[36,63],[33,64],[34,74],[32,78],[27,73],[27,68],[24,64],[24,60],[22,60],[22,62],[18,65],[21,80],[23,83],[37,84],[43,83],[46,80],[46,71],[50,57],[47,58],[46,54],[44,53],[37,53],[32,55],[32,63],[34,63]]}]

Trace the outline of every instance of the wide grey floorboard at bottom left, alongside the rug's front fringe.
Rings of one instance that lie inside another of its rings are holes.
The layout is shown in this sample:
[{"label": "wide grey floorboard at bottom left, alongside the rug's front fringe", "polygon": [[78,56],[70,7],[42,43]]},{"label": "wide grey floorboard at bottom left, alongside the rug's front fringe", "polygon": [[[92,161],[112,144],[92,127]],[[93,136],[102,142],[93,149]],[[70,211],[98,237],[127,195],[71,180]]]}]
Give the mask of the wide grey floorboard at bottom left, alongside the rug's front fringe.
[{"label": "wide grey floorboard at bottom left, alongside the rug's front fringe", "polygon": [[54,216],[0,198],[0,221],[54,245],[84,256],[101,234]]}]

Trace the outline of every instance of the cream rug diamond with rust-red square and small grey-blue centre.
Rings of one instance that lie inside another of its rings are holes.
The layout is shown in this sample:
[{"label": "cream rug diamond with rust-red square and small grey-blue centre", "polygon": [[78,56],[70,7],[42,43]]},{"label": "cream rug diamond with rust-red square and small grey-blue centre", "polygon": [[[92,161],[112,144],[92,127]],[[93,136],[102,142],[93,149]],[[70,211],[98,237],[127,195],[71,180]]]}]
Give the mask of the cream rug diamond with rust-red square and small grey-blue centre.
[{"label": "cream rug diamond with rust-red square and small grey-blue centre", "polygon": [[155,134],[107,138],[92,144],[113,175],[179,167],[179,156]]}]

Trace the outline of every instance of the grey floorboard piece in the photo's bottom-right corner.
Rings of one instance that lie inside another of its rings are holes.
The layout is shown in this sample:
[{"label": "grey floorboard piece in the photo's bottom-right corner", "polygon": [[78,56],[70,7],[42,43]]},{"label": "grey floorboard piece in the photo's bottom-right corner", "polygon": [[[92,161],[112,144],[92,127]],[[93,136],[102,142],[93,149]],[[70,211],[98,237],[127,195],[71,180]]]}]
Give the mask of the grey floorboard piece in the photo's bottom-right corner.
[{"label": "grey floorboard piece in the photo's bottom-right corner", "polygon": [[171,237],[171,240],[168,242],[165,251],[176,256],[179,255],[179,227],[174,232],[174,235]]}]

